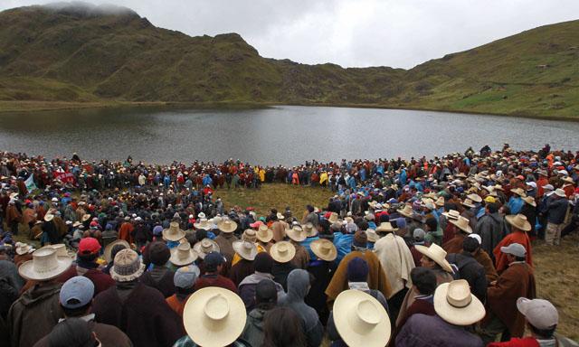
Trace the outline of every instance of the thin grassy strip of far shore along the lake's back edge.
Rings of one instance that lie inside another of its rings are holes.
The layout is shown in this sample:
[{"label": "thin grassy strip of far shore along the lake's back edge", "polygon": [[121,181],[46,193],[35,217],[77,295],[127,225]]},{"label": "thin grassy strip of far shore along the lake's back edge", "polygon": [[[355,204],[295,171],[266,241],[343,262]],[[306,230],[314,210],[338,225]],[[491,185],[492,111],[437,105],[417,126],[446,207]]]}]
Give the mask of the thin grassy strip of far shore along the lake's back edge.
[{"label": "thin grassy strip of far shore along the lake's back edge", "polygon": [[417,106],[394,106],[381,104],[335,104],[320,102],[178,102],[178,101],[108,101],[108,102],[60,102],[60,101],[0,101],[0,116],[4,113],[31,113],[59,110],[91,109],[91,108],[190,108],[190,109],[257,109],[271,108],[276,106],[303,106],[325,108],[375,108],[375,109],[400,109],[409,111],[446,112],[465,115],[498,116],[498,117],[521,117],[540,120],[557,120],[565,122],[579,122],[579,117],[545,116],[533,114],[507,114],[498,112],[482,112],[476,110],[458,110],[448,108],[427,108]]}]

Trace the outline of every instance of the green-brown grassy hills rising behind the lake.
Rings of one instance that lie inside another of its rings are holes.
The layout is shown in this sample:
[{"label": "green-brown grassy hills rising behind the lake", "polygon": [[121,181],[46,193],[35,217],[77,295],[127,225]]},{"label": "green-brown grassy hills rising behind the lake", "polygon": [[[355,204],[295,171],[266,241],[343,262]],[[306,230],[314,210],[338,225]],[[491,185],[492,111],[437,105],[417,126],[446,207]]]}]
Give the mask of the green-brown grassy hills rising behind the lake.
[{"label": "green-brown grassy hills rising behind the lake", "polygon": [[0,13],[0,100],[431,108],[579,117],[579,21],[411,70],[266,59],[236,33],[190,37],[126,8],[61,3]]}]

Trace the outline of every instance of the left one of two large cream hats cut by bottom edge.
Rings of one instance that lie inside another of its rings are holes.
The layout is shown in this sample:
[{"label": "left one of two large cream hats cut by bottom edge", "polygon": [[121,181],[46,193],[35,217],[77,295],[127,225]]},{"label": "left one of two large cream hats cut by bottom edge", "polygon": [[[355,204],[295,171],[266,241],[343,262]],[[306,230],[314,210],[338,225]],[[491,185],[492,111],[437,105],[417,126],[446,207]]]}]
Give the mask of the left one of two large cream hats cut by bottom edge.
[{"label": "left one of two large cream hats cut by bottom edge", "polygon": [[216,286],[195,291],[183,310],[185,331],[195,344],[204,347],[230,345],[242,334],[246,320],[242,298]]}]

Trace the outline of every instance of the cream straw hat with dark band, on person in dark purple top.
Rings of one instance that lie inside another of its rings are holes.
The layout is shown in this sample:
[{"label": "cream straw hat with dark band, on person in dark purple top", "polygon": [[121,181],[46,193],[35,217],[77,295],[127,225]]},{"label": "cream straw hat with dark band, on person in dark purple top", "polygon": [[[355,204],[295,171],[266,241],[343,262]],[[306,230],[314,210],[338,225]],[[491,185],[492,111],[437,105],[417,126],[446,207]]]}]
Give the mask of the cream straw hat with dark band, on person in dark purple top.
[{"label": "cream straw hat with dark band, on person in dark purple top", "polygon": [[434,311],[441,318],[455,325],[470,325],[485,316],[485,307],[470,293],[469,282],[457,279],[443,283],[434,292]]}]

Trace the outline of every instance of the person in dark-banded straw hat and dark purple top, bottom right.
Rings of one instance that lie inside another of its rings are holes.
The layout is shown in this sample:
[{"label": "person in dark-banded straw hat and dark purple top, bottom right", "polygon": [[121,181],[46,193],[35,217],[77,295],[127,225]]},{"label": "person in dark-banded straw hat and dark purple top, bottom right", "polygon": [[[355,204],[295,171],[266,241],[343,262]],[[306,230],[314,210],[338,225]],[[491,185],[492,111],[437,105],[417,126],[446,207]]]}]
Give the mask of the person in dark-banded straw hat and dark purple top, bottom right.
[{"label": "person in dark-banded straw hat and dark purple top, bottom right", "polygon": [[483,347],[467,327],[485,316],[485,307],[464,279],[441,284],[434,292],[435,315],[413,314],[396,336],[396,347]]}]

